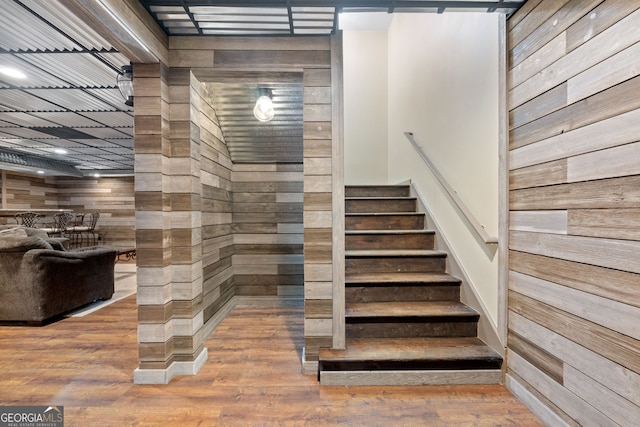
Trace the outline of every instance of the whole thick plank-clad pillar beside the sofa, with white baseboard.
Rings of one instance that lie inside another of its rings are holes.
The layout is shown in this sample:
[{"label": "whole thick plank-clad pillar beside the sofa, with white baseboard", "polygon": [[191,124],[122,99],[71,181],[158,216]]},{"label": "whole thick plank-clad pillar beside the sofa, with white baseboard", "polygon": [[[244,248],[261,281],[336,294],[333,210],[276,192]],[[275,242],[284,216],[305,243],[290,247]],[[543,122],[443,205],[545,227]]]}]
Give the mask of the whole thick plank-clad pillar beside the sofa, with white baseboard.
[{"label": "whole thick plank-clad pillar beside the sofa, with white baseboard", "polygon": [[198,155],[188,85],[170,91],[169,74],[163,64],[134,66],[139,384],[194,374],[207,357]]}]

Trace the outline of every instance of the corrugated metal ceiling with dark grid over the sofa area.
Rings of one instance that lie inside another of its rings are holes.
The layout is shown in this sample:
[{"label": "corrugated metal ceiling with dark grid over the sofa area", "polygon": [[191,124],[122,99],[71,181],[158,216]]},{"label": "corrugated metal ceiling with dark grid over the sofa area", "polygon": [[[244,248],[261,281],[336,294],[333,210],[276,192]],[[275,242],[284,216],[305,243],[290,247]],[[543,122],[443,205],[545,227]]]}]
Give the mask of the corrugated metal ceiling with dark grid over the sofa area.
[{"label": "corrugated metal ceiling with dark grid over the sofa area", "polygon": [[133,111],[116,86],[128,63],[58,1],[2,0],[0,67],[26,78],[0,73],[1,167],[132,173]]}]

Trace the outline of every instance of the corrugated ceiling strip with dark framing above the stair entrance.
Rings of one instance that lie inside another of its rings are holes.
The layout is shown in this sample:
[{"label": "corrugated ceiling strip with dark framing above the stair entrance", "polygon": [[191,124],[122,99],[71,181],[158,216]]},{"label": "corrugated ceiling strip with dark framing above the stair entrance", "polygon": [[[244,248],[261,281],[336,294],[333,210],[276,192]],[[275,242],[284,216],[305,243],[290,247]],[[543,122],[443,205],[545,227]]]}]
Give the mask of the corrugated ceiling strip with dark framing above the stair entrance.
[{"label": "corrugated ceiling strip with dark framing above the stair entrance", "polygon": [[352,12],[502,12],[524,0],[141,0],[169,35],[327,35]]}]

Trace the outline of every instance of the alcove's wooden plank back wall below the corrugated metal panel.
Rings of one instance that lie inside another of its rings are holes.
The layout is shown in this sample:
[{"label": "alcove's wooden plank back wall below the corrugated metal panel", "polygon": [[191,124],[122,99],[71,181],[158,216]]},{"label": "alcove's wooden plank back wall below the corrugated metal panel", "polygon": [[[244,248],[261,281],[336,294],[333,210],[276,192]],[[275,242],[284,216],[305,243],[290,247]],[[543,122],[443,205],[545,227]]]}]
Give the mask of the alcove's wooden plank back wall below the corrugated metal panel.
[{"label": "alcove's wooden plank back wall below the corrugated metal panel", "polygon": [[235,294],[302,297],[302,164],[234,164],[232,181]]}]

